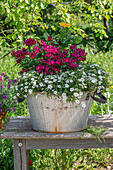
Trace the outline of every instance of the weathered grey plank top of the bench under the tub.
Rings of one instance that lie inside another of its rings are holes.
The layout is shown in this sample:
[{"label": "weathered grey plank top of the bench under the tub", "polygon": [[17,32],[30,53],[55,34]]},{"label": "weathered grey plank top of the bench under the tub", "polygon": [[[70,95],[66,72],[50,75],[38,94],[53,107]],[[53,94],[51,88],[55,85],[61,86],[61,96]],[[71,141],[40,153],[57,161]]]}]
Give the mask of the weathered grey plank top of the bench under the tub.
[{"label": "weathered grey plank top of the bench under the tub", "polygon": [[[113,115],[92,115],[89,116],[88,126],[105,128],[104,138],[113,138]],[[42,133],[32,129],[30,117],[11,117],[9,118],[3,134],[0,138],[13,139],[92,139],[91,134],[84,134],[84,131],[75,133]]]}]

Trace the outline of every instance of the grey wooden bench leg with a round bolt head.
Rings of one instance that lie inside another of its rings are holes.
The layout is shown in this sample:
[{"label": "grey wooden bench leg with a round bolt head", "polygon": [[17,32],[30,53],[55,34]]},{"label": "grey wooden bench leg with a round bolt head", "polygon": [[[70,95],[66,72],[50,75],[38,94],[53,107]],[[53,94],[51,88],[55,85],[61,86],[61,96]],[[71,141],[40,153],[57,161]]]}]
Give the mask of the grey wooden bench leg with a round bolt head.
[{"label": "grey wooden bench leg with a round bolt head", "polygon": [[25,139],[13,139],[14,170],[30,170],[30,151]]}]

